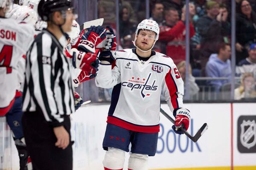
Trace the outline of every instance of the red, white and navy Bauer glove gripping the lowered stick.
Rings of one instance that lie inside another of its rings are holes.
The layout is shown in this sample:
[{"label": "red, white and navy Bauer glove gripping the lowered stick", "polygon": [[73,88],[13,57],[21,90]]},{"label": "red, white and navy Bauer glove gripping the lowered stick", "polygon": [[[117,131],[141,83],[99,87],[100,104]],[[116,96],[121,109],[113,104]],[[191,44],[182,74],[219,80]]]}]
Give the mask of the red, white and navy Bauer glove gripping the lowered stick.
[{"label": "red, white and navy Bauer glove gripping the lowered stick", "polygon": [[185,108],[178,108],[173,111],[175,116],[175,125],[172,126],[172,129],[177,134],[183,134],[181,127],[185,130],[189,128],[190,112]]}]

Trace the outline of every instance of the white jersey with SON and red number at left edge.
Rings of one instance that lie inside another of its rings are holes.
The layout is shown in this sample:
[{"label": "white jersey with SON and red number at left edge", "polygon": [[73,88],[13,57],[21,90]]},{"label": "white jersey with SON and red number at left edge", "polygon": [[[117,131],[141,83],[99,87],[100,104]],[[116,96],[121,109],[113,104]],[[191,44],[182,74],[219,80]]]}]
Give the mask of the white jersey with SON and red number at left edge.
[{"label": "white jersey with SON and red number at left edge", "polygon": [[34,29],[0,17],[0,108],[7,107],[19,89],[18,62],[34,40]]}]

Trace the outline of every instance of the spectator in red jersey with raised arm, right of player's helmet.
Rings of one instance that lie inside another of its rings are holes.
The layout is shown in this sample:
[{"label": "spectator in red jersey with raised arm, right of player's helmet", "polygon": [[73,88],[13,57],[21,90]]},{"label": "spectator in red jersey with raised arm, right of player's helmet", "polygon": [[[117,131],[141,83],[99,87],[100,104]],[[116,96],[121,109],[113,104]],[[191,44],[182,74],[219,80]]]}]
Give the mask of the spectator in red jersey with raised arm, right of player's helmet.
[{"label": "spectator in red jersey with raised arm, right of player's helmet", "polygon": [[[195,14],[195,7],[193,4],[189,8],[190,18]],[[169,8],[165,11],[165,22],[160,27],[159,41],[164,41],[166,45],[166,55],[172,57],[175,64],[182,60],[185,60],[185,26],[186,10],[183,8],[181,14],[181,20],[179,20],[178,11],[175,8]],[[190,22],[189,24],[189,36],[192,37],[195,34],[194,26]],[[162,50],[162,53],[165,51]]]}]

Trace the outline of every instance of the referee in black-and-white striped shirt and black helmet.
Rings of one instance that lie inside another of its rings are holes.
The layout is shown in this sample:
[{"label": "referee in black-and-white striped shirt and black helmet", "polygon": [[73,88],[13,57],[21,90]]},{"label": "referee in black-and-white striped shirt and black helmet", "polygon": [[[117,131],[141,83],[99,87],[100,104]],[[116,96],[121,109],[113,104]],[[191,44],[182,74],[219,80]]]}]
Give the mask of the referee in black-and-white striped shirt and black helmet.
[{"label": "referee in black-and-white striped shirt and black helmet", "polygon": [[64,32],[75,19],[72,0],[41,0],[38,14],[47,21],[26,58],[23,130],[33,170],[72,170],[70,118],[75,112]]}]

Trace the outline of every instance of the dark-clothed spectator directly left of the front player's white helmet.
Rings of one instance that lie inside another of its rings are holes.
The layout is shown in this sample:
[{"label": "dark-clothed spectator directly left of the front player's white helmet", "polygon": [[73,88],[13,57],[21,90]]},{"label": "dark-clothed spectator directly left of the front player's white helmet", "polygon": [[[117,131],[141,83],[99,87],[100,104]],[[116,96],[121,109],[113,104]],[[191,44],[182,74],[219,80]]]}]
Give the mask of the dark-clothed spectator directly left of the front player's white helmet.
[{"label": "dark-clothed spectator directly left of the front player's white helmet", "polygon": [[130,21],[131,11],[127,6],[122,6],[119,12],[119,36],[121,40],[121,46],[123,48],[128,48],[132,44],[131,41],[132,34],[134,33],[134,29],[136,30],[136,23],[132,23]]}]

